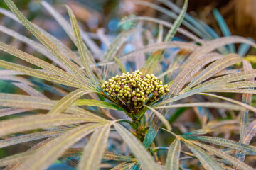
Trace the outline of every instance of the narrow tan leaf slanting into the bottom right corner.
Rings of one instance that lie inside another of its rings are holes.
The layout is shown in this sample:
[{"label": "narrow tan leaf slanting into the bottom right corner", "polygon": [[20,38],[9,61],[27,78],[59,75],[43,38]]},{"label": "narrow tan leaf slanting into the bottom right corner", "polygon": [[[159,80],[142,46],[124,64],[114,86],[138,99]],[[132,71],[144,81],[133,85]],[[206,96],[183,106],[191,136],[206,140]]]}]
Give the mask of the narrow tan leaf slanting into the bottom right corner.
[{"label": "narrow tan leaf slanting into the bottom right corner", "polygon": [[199,147],[202,147],[203,149],[208,150],[209,152],[215,154],[216,156],[222,158],[225,160],[225,162],[229,162],[230,164],[233,164],[234,166],[237,166],[238,169],[241,170],[253,170],[253,168],[251,166],[248,166],[247,164],[245,164],[244,162],[241,162],[239,159],[235,159],[235,157],[231,157],[229,154],[226,154],[225,152],[223,152],[220,149],[216,149],[215,147],[209,147],[208,145],[204,145],[200,142],[194,142],[194,144],[198,145]]}]

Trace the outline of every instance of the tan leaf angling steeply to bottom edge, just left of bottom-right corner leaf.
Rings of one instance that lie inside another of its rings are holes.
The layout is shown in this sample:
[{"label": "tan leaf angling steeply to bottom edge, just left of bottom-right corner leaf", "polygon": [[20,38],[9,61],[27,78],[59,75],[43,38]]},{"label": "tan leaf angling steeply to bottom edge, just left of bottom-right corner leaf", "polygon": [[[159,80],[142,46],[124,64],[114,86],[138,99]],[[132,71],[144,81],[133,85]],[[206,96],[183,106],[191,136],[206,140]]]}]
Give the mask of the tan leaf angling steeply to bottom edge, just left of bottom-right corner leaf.
[{"label": "tan leaf angling steeply to bottom edge, just left of bottom-right corner leaf", "polygon": [[223,169],[218,162],[216,162],[213,157],[211,157],[209,154],[203,151],[200,147],[197,147],[196,145],[193,145],[192,142],[188,140],[183,140],[185,142],[186,146],[191,149],[193,154],[196,155],[196,157],[199,159],[199,161],[202,163],[203,167],[205,169],[209,170],[215,170],[215,169]]}]

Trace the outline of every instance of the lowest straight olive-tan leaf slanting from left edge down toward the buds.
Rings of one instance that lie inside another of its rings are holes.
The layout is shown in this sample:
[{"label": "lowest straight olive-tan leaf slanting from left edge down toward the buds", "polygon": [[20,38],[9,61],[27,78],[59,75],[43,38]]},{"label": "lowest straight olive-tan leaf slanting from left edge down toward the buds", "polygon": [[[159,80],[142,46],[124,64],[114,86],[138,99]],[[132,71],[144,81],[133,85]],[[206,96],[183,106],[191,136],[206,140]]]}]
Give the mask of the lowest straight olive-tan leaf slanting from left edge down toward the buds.
[{"label": "lowest straight olive-tan leaf slanting from left edge down toward the buds", "polygon": [[43,72],[40,69],[31,69],[29,67],[21,66],[19,64],[6,62],[4,60],[0,60],[0,67],[3,67],[5,69],[11,69],[11,70],[14,70],[17,72],[22,72],[22,73],[28,74],[29,76],[36,77],[38,79],[45,79],[45,80],[53,81],[55,83],[63,84],[66,86],[73,86],[73,87],[77,87],[77,88],[87,87],[85,85],[81,86],[80,84],[77,84],[74,81],[67,81],[67,79],[64,79],[63,77],[59,77],[55,74]]}]

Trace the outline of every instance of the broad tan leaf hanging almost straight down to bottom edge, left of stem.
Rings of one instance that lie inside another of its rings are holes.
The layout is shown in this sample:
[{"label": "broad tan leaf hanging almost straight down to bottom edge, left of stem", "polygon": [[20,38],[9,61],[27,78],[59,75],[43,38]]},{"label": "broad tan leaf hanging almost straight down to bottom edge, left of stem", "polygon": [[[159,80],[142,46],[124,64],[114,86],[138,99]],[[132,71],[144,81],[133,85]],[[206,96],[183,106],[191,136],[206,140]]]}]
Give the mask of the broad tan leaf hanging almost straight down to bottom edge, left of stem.
[{"label": "broad tan leaf hanging almost straight down to bottom edge, left of stem", "polygon": [[110,126],[111,125],[105,125],[103,128],[93,132],[93,135],[85,146],[80,163],[78,164],[78,170],[100,169],[99,165],[110,135]]}]

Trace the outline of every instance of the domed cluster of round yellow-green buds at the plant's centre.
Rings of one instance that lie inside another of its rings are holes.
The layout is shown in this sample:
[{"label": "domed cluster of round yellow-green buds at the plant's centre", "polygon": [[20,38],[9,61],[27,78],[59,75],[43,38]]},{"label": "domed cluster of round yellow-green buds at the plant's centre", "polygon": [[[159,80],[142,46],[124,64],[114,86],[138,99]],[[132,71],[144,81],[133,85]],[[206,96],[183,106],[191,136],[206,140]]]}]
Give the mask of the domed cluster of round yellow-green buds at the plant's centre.
[{"label": "domed cluster of round yellow-green buds at the plant's centre", "polygon": [[154,74],[145,76],[139,70],[104,81],[102,89],[114,101],[125,105],[129,113],[137,113],[144,104],[157,101],[169,91]]}]

